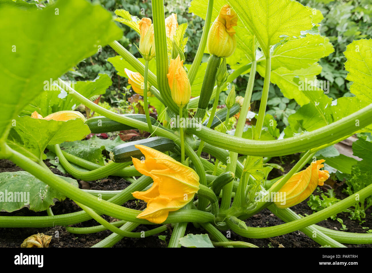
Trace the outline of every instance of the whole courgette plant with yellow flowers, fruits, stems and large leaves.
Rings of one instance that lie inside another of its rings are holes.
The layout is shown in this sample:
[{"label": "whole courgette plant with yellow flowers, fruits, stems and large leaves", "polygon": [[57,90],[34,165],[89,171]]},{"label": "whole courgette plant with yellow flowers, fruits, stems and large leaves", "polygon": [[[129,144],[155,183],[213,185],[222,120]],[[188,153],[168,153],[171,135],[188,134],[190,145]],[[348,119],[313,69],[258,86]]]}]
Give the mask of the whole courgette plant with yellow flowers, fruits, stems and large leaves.
[{"label": "whole courgette plant with yellow flowers, fruits, stems and large leaves", "polygon": [[[305,79],[308,82],[320,73],[319,59],[333,52],[329,40],[317,32],[323,18],[320,11],[291,0],[194,0],[189,11],[203,17],[205,26],[195,59],[186,74],[183,54],[187,24],[178,26],[176,23],[172,30],[172,23],[164,20],[163,1],[151,2],[153,22],[142,19],[140,23],[125,10],[116,11],[120,16],[117,21],[141,35],[138,49],[144,59],[135,58],[116,41],[123,33],[112,22],[111,15],[87,1],[60,0],[43,9],[26,2],[14,6],[12,1],[5,1],[1,5],[0,52],[4,56],[0,58],[3,85],[0,158],[9,159],[26,171],[6,173],[3,178],[17,181],[32,177],[35,183],[44,182],[54,189],[59,199],[67,196],[74,200],[83,211],[53,215],[49,206],[40,208],[29,204],[31,208],[47,209],[48,216],[1,216],[0,227],[63,225],[71,233],[113,231],[95,247],[112,246],[123,237],[154,235],[166,230],[166,224],[173,225],[169,247],[180,247],[179,239],[184,237],[187,223],[202,228],[217,241],[215,245],[225,247],[254,247],[230,241],[224,235],[228,229],[247,238],[268,238],[301,230],[320,245],[331,247],[344,247],[343,243],[372,243],[372,234],[346,233],[315,225],[371,195],[372,185],[303,218],[289,208],[307,198],[315,189],[314,185],[321,185],[329,176],[320,170],[324,160],[314,160],[306,170],[299,172],[313,159],[315,152],[357,132],[371,132],[372,40],[361,39],[347,46],[345,69],[349,71],[347,79],[353,81],[350,92],[356,96],[339,98],[337,104],[331,104],[323,90],[317,90],[316,86],[309,84],[309,88],[301,89]],[[42,24],[43,27],[38,27]],[[218,28],[223,35],[217,34]],[[111,46],[119,54],[109,61],[120,75],[129,77],[124,71],[126,68],[143,76],[145,104],[147,106],[147,97],[154,97],[152,99],[163,104],[164,120],[150,118],[148,109],[145,115],[121,115],[89,100],[95,92],[102,94],[111,84],[107,75],[100,74],[95,81],[75,84],[59,78],[81,59],[102,50],[104,45]],[[211,56],[203,66],[201,61],[206,47]],[[227,64],[233,69],[230,74],[226,71]],[[244,99],[235,103],[232,90],[226,101],[228,107],[216,112],[218,104],[224,104],[219,101],[219,93],[227,87],[231,89],[232,81],[248,72]],[[264,77],[262,98],[256,125],[247,130],[246,117],[257,72]],[[195,90],[197,78],[203,78],[201,90]],[[49,79],[51,84],[45,89]],[[301,105],[282,139],[277,139],[273,125],[276,123],[265,113],[270,82],[277,84],[285,97],[294,98]],[[205,117],[213,98],[209,119],[202,123],[201,118]],[[71,110],[78,103],[102,116],[85,123],[80,117],[42,118],[53,112]],[[30,117],[35,110],[40,115]],[[171,121],[188,117],[190,113],[195,116],[188,126],[170,126]],[[234,135],[213,130],[236,113],[239,119]],[[151,137],[111,149],[113,162],[105,166],[67,153],[59,145],[81,140],[90,132],[129,129],[149,131]],[[76,187],[74,179],[62,178],[49,170],[43,162],[46,147],[75,178],[88,181],[108,175],[140,178],[128,178],[133,183],[119,192],[82,190]],[[202,159],[202,151],[214,156],[215,164]],[[264,169],[267,157],[299,152],[304,152],[303,156],[286,175],[267,180],[267,169]],[[238,161],[238,153],[246,156],[243,163]],[[134,166],[131,166],[132,160]],[[77,169],[76,165],[86,170]],[[156,172],[151,169],[155,165],[160,166]],[[167,173],[161,172],[164,168]],[[172,186],[174,181],[181,183]],[[18,190],[26,191],[25,188]],[[286,197],[282,200],[280,194]],[[150,217],[146,210],[141,212],[121,206],[134,199],[134,195],[147,200],[147,209],[155,205],[160,209]],[[285,201],[287,205],[283,204]],[[154,205],[155,202],[158,203]],[[247,227],[244,220],[264,208],[269,208],[286,224]],[[9,211],[8,208],[4,210]],[[102,214],[120,221],[109,223],[100,216]],[[101,225],[68,227],[91,218]],[[163,225],[143,234],[132,232],[140,224],[159,223]]]}]

